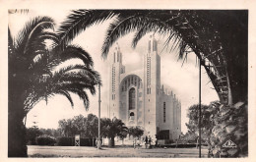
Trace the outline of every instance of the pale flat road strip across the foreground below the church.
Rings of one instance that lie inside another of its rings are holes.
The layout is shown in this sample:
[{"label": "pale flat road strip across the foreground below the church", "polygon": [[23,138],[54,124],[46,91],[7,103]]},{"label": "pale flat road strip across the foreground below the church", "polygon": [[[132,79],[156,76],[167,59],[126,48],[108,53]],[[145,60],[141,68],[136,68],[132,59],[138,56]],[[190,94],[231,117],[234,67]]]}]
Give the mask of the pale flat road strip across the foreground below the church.
[{"label": "pale flat road strip across the foreground below the church", "polygon": [[[198,157],[196,148],[152,148],[102,147],[97,150],[88,146],[37,146],[29,145],[30,157]],[[207,149],[202,149],[202,157],[207,157]]]}]

